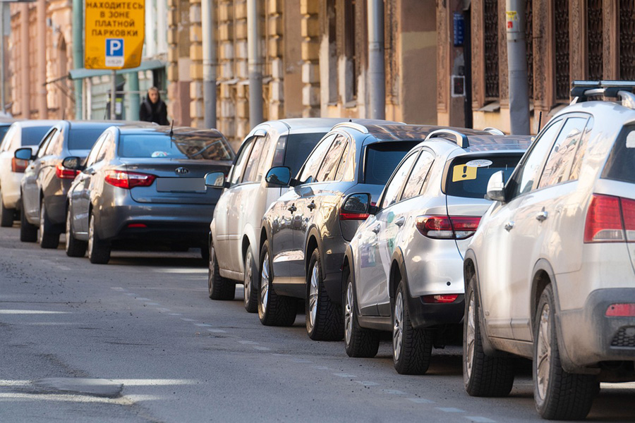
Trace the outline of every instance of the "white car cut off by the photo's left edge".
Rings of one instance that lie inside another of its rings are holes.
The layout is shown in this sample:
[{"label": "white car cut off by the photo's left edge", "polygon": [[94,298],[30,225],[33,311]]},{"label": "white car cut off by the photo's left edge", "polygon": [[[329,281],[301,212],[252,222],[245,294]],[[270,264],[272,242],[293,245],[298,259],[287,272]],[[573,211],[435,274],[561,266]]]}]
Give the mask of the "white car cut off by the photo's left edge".
[{"label": "white car cut off by the photo's left edge", "polygon": [[13,153],[21,147],[33,151],[56,121],[16,121],[11,124],[0,144],[0,226],[11,226],[20,210],[20,181],[28,161]]}]

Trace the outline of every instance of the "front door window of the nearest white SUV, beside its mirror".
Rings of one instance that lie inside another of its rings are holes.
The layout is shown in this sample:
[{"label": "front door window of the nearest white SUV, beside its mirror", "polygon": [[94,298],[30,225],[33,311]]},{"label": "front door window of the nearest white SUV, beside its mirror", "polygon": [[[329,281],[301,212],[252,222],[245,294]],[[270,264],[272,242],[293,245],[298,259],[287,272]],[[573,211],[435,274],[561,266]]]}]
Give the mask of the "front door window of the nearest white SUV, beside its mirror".
[{"label": "front door window of the nearest white SUV, beside its mirror", "polygon": [[545,154],[550,151],[555,137],[560,132],[560,126],[562,126],[562,120],[555,121],[547,128],[543,130],[538,139],[533,142],[530,150],[526,153],[522,163],[516,168],[514,177],[510,180],[509,196],[510,198],[517,197],[525,192],[529,192],[533,188],[533,183],[539,176],[539,171]]}]

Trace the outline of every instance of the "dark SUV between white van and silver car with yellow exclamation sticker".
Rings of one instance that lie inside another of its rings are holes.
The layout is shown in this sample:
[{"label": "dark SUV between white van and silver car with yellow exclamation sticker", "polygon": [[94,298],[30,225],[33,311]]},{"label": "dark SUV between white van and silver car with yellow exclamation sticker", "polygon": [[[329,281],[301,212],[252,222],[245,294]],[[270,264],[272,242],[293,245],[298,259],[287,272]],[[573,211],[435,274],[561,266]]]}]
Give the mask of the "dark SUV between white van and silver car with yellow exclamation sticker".
[{"label": "dark SUV between white van and silver car with yellow exclamation sticker", "polygon": [[262,324],[293,324],[301,299],[311,339],[344,336],[341,263],[346,244],[368,217],[347,207],[354,201],[351,195],[370,192],[368,200],[377,201],[399,161],[437,128],[382,121],[340,123],[313,149],[296,178],[291,179],[284,167],[267,173],[267,183],[291,188],[262,219]]}]

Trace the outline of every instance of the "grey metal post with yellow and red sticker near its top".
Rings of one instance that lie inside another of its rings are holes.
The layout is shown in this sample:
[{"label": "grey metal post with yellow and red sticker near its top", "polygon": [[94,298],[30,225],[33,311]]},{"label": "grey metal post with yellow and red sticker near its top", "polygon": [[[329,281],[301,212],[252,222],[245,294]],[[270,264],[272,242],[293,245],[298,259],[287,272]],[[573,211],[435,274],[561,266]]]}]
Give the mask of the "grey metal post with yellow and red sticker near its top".
[{"label": "grey metal post with yellow and red sticker near its top", "polygon": [[507,0],[507,66],[512,134],[529,135],[529,85],[525,44],[525,0]]}]

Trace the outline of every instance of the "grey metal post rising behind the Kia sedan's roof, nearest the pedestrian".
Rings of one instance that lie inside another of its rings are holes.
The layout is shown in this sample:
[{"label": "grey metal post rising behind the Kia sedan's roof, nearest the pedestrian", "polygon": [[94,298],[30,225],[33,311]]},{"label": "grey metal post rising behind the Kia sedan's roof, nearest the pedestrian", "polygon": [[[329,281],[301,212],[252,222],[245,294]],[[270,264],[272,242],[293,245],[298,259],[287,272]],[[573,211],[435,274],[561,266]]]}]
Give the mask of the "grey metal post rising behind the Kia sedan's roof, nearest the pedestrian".
[{"label": "grey metal post rising behind the Kia sedan's roof, nearest the pedestrian", "polygon": [[205,128],[216,128],[216,39],[214,39],[214,4],[201,2],[203,49],[203,104]]}]

